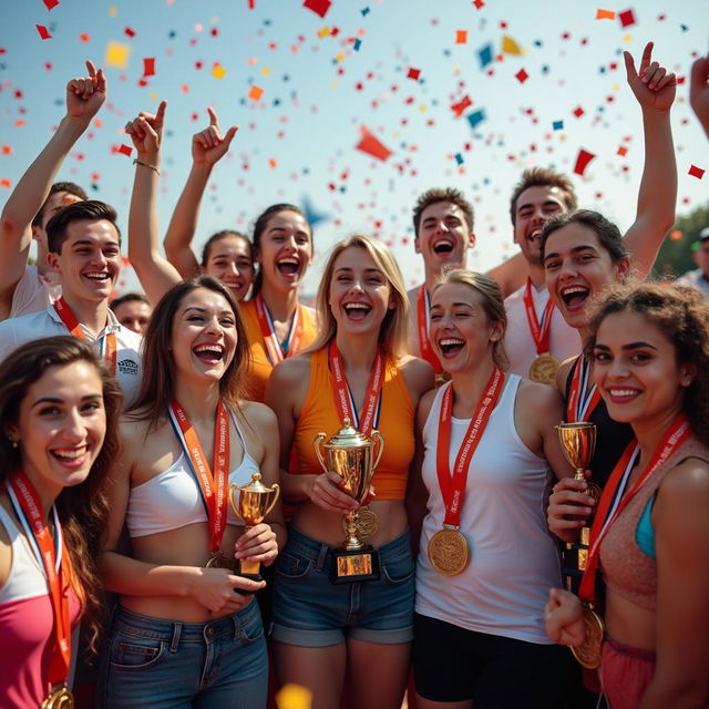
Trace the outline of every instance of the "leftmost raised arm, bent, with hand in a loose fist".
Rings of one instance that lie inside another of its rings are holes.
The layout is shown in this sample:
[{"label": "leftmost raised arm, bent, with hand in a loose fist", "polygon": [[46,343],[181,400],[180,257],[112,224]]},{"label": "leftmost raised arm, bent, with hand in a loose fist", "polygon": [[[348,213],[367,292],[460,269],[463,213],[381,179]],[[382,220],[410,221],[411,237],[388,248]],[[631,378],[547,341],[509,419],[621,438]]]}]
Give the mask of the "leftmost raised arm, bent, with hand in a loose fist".
[{"label": "leftmost raised arm, bent, with hand in a loose fist", "polygon": [[103,70],[88,61],[89,76],[66,84],[66,114],[59,127],[18,182],[2,209],[0,237],[0,295],[14,290],[22,277],[32,242],[32,219],[40,210],[64,162],[106,99]]}]

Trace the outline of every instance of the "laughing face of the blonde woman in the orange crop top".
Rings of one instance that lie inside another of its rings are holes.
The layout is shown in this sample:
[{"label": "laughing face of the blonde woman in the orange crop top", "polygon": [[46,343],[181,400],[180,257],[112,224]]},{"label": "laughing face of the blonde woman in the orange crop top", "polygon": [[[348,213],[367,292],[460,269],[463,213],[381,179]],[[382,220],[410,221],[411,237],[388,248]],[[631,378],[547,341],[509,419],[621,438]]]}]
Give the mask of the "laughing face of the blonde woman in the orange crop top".
[{"label": "laughing face of the blonde woman in the orange crop top", "polygon": [[364,248],[350,246],[335,259],[329,296],[339,330],[377,332],[394,307],[391,286]]}]

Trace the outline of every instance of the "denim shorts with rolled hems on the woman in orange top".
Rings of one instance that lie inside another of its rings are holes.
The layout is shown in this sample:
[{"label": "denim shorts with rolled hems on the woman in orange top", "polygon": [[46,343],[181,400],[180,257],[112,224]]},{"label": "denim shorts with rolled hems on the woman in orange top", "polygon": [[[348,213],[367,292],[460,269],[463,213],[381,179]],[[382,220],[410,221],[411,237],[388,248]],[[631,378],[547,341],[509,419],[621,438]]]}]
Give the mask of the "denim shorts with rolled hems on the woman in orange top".
[{"label": "denim shorts with rolled hems on the woman in orange top", "polygon": [[328,647],[346,638],[410,643],[415,562],[409,532],[379,547],[378,580],[330,583],[336,551],[290,527],[276,561],[271,637],[301,647]]}]

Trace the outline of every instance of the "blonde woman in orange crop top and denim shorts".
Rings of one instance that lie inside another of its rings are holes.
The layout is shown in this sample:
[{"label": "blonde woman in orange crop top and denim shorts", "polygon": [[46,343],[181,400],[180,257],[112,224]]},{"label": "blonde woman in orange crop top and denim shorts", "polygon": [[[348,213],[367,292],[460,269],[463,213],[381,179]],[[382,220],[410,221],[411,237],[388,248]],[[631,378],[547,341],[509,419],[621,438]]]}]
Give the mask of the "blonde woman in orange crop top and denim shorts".
[{"label": "blonde woman in orange crop top and denim shorts", "polygon": [[[317,308],[322,322],[317,342],[276,367],[267,391],[280,431],[284,496],[300,503],[282,564],[276,566],[276,671],[281,684],[308,687],[314,709],[339,706],[346,672],[349,706],[399,709],[409,668],[414,574],[403,496],[415,408],[433,387],[433,370],[403,354],[407,292],[395,260],[379,242],[353,236],[335,247]],[[335,472],[322,472],[312,443],[321,431],[328,439],[337,433],[346,415],[366,434],[379,430],[384,449],[362,515],[377,521],[369,528],[371,569],[362,564],[357,569],[362,576],[335,578],[345,541],[342,515],[359,505]],[[295,474],[286,472],[291,445]]]}]

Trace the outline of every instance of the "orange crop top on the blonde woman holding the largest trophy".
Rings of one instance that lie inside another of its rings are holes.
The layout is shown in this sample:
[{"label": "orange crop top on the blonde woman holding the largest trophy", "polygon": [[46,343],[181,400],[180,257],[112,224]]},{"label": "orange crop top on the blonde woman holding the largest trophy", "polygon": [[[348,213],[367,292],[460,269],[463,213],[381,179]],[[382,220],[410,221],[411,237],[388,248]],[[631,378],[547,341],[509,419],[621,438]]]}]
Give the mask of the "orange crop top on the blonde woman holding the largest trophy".
[{"label": "orange crop top on the blonde woman holding the largest trophy", "polygon": [[[414,417],[415,407],[403,374],[393,359],[387,356],[381,411],[376,427],[384,436],[384,452],[372,479],[377,500],[404,497],[414,450]],[[308,394],[294,435],[296,474],[322,472],[312,441],[320,431],[329,439],[341,425],[326,347],[310,354]]]}]

